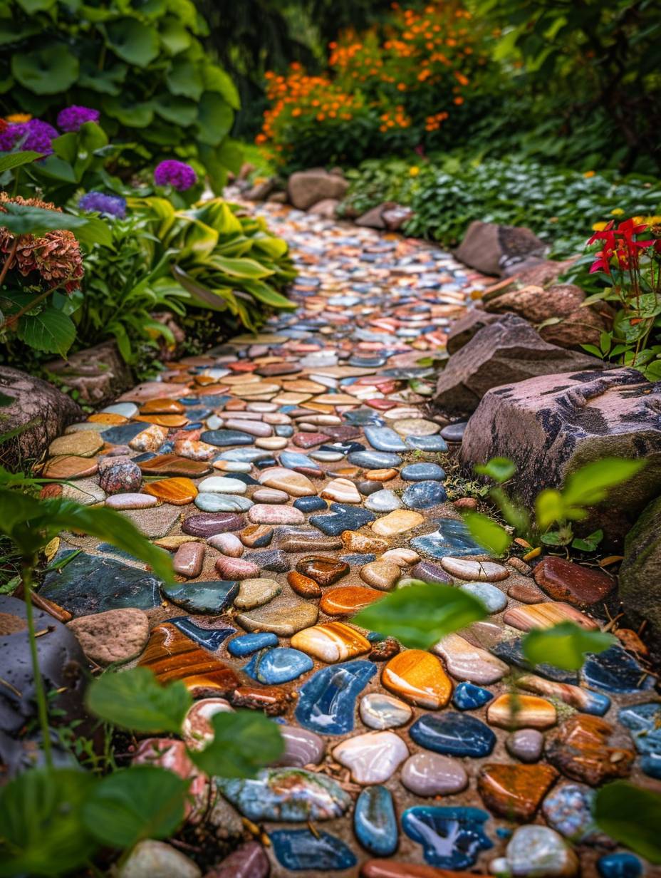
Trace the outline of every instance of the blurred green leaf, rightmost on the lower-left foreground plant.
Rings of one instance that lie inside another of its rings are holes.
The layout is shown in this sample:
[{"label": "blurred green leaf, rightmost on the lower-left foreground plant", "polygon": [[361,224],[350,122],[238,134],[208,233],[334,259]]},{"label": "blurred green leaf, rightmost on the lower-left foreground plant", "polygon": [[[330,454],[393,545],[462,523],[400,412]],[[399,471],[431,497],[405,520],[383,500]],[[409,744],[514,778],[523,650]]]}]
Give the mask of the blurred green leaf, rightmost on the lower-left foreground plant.
[{"label": "blurred green leaf, rightmost on the lower-left foreground plant", "polygon": [[204,750],[190,750],[190,759],[205,774],[255,777],[284,751],[277,723],[254,710],[212,716],[214,737]]}]

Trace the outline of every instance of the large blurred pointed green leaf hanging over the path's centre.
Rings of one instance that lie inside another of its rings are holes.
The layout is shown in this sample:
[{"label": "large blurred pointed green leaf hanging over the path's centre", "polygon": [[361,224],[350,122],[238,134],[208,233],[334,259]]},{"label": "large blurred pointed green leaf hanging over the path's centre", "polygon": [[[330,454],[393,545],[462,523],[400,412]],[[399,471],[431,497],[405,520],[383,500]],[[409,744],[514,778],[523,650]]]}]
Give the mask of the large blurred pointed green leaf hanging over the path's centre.
[{"label": "large blurred pointed green leaf hanging over the path's centre", "polygon": [[351,622],[397,637],[405,646],[426,650],[441,637],[488,615],[472,594],[451,586],[399,588],[362,609]]}]

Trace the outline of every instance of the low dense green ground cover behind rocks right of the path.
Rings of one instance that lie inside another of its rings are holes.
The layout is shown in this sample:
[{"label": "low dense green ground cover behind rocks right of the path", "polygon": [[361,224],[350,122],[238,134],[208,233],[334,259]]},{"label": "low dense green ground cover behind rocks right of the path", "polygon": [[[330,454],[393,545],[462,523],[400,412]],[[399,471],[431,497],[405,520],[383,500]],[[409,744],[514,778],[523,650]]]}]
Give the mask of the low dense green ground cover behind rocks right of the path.
[{"label": "low dense green ground cover behind rocks right of the path", "polygon": [[581,229],[611,215],[649,215],[661,204],[661,183],[641,176],[585,174],[536,162],[469,160],[439,163],[370,160],[347,173],[344,210],[362,213],[383,201],[413,208],[406,234],[454,246],[473,219],[528,226],[548,241],[552,255],[582,252]]}]

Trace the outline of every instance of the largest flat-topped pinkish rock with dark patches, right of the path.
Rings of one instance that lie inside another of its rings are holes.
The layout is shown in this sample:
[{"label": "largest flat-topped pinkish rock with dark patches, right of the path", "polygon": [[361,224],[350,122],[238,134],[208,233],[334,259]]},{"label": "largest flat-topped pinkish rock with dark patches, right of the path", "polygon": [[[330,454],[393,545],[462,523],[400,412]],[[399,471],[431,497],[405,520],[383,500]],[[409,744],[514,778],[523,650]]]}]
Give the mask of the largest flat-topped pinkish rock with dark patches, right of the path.
[{"label": "largest flat-topped pinkish rock with dark patches, right of the path", "polygon": [[463,464],[490,457],[514,461],[513,491],[528,504],[594,460],[646,459],[643,471],[581,522],[581,529],[603,528],[619,539],[661,491],[661,383],[650,384],[635,369],[613,369],[496,387],[471,417],[461,451]]}]

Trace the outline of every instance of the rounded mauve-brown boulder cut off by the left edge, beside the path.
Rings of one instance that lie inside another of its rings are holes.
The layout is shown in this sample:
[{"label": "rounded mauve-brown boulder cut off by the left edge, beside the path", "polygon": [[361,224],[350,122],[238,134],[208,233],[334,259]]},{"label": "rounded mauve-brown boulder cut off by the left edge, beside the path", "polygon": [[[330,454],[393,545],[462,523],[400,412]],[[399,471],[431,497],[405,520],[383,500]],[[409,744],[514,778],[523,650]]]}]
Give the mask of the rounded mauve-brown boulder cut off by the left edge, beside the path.
[{"label": "rounded mauve-brown boulder cut off by the left edge, beside the path", "polygon": [[0,464],[7,469],[39,460],[65,427],[83,420],[81,408],[66,393],[11,366],[0,366],[0,392],[13,400],[0,407],[0,435],[17,431],[0,445]]}]

